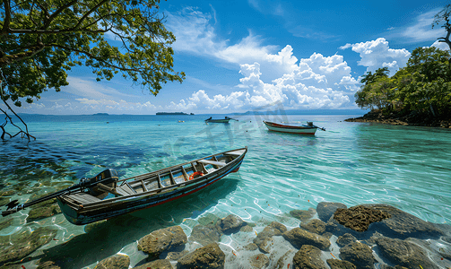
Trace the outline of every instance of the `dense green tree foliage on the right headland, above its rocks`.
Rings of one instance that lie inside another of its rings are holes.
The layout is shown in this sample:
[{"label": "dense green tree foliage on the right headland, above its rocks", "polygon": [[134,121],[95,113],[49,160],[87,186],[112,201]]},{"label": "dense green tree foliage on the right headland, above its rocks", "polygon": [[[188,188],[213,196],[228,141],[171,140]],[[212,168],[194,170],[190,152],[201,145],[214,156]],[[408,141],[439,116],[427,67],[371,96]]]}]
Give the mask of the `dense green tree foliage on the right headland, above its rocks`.
[{"label": "dense green tree foliage on the right headland, above its rocks", "polygon": [[451,65],[448,51],[416,48],[407,62],[392,77],[388,69],[368,72],[355,94],[360,108],[416,110],[433,117],[451,115]]}]

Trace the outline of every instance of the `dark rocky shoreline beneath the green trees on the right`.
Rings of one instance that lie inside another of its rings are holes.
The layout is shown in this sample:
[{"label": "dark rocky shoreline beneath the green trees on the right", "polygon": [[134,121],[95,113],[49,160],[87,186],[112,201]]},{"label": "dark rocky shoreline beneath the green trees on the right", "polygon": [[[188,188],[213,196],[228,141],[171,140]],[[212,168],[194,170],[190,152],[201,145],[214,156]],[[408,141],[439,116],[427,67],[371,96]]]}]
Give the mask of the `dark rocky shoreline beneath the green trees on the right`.
[{"label": "dark rocky shoreline beneath the green trees on the right", "polygon": [[347,122],[375,122],[395,126],[431,126],[451,128],[450,118],[435,118],[420,114],[417,111],[394,111],[390,114],[380,110],[372,110],[362,117],[345,119]]}]

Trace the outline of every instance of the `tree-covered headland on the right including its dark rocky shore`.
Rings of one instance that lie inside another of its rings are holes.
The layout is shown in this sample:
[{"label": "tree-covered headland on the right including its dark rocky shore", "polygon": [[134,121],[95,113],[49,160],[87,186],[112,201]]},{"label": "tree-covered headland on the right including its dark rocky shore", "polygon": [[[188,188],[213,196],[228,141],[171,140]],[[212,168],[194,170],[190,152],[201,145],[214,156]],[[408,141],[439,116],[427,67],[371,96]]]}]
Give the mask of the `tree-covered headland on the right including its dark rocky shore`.
[{"label": "tree-covered headland on the right including its dark rocky shore", "polygon": [[345,121],[450,128],[450,60],[448,50],[415,48],[393,76],[387,67],[367,72],[354,97],[357,106],[371,111]]}]

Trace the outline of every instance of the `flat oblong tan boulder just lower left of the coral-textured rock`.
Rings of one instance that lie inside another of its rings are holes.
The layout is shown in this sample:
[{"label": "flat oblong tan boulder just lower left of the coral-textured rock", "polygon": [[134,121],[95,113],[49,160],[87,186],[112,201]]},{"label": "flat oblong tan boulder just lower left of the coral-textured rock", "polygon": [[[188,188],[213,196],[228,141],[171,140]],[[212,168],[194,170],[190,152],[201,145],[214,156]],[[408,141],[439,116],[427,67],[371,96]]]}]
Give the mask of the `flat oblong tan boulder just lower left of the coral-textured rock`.
[{"label": "flat oblong tan boulder just lower left of the coral-textured rock", "polygon": [[282,236],[296,248],[299,248],[302,245],[311,245],[325,250],[331,246],[329,239],[300,228],[286,231]]}]

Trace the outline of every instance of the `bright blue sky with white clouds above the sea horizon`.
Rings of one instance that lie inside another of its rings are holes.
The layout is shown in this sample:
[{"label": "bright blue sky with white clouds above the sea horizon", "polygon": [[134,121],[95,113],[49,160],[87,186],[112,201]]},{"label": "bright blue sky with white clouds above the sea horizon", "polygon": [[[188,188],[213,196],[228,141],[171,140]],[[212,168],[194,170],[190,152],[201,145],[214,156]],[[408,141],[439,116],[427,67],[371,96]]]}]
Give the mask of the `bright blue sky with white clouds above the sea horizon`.
[{"label": "bright blue sky with white clouds above the sea horizon", "polygon": [[412,50],[438,46],[446,31],[431,29],[449,1],[193,1],[160,3],[177,41],[174,70],[155,97],[119,75],[96,82],[76,67],[69,86],[49,90],[17,112],[152,115],[286,109],[357,108],[360,76],[405,66]]}]

